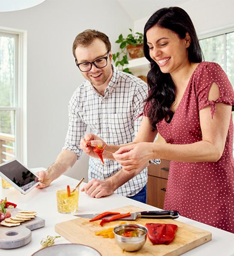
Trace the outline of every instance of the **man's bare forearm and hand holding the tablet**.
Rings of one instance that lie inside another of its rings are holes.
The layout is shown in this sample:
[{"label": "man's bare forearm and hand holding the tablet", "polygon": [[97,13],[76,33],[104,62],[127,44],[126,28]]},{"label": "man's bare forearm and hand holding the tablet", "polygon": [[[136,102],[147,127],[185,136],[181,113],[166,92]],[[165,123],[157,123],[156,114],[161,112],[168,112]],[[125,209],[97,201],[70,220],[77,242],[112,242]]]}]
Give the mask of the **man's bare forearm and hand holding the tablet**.
[{"label": "man's bare forearm and hand holding the tablet", "polygon": [[37,188],[48,187],[52,181],[59,178],[64,172],[70,169],[77,160],[77,155],[67,149],[63,150],[55,162],[46,170],[38,172],[39,181]]}]

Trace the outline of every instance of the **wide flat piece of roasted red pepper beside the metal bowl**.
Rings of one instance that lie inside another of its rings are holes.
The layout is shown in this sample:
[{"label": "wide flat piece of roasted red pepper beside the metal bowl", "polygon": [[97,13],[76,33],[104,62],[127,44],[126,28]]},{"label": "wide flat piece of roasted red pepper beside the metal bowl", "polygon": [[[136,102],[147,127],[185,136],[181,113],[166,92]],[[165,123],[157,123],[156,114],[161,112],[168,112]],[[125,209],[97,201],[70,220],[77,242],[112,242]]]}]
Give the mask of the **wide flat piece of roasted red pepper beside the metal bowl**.
[{"label": "wide flat piece of roasted red pepper beside the metal bowl", "polygon": [[152,244],[170,244],[175,238],[177,225],[161,224],[161,223],[146,223],[148,229],[148,238]]}]

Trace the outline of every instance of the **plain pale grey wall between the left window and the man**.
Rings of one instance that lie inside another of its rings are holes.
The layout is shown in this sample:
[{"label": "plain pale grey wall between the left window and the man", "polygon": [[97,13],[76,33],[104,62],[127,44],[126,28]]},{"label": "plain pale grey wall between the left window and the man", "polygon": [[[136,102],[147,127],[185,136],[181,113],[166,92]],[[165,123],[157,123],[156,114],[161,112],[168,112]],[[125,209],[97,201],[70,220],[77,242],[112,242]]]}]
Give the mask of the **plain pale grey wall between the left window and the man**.
[{"label": "plain pale grey wall between the left window and the man", "polygon": [[[47,167],[62,149],[68,101],[83,77],[74,64],[72,43],[85,29],[106,33],[114,46],[133,21],[116,0],[46,0],[33,8],[0,12],[0,26],[27,30],[27,165]],[[87,178],[83,154],[66,174]],[[86,180],[87,181],[87,180]]]}]

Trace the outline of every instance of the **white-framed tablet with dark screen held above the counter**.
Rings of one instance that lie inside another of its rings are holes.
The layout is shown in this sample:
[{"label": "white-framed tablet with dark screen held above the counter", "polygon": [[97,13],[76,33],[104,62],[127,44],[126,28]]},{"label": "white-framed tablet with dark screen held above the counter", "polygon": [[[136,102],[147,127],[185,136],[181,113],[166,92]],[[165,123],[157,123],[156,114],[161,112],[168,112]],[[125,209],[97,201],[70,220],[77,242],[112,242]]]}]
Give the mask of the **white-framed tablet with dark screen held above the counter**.
[{"label": "white-framed tablet with dark screen held above the counter", "polygon": [[22,194],[40,184],[38,176],[16,159],[0,164],[0,176]]}]

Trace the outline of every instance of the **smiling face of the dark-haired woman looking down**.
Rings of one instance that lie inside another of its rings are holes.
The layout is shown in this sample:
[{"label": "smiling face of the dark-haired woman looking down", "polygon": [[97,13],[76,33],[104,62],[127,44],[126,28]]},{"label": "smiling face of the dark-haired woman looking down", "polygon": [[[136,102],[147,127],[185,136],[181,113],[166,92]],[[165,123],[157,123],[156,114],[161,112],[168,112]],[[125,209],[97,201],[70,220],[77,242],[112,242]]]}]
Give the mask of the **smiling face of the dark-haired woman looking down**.
[{"label": "smiling face of the dark-haired woman looking down", "polygon": [[158,64],[163,73],[175,72],[189,63],[187,48],[190,45],[190,36],[185,39],[172,30],[151,27],[146,32],[150,57]]}]

